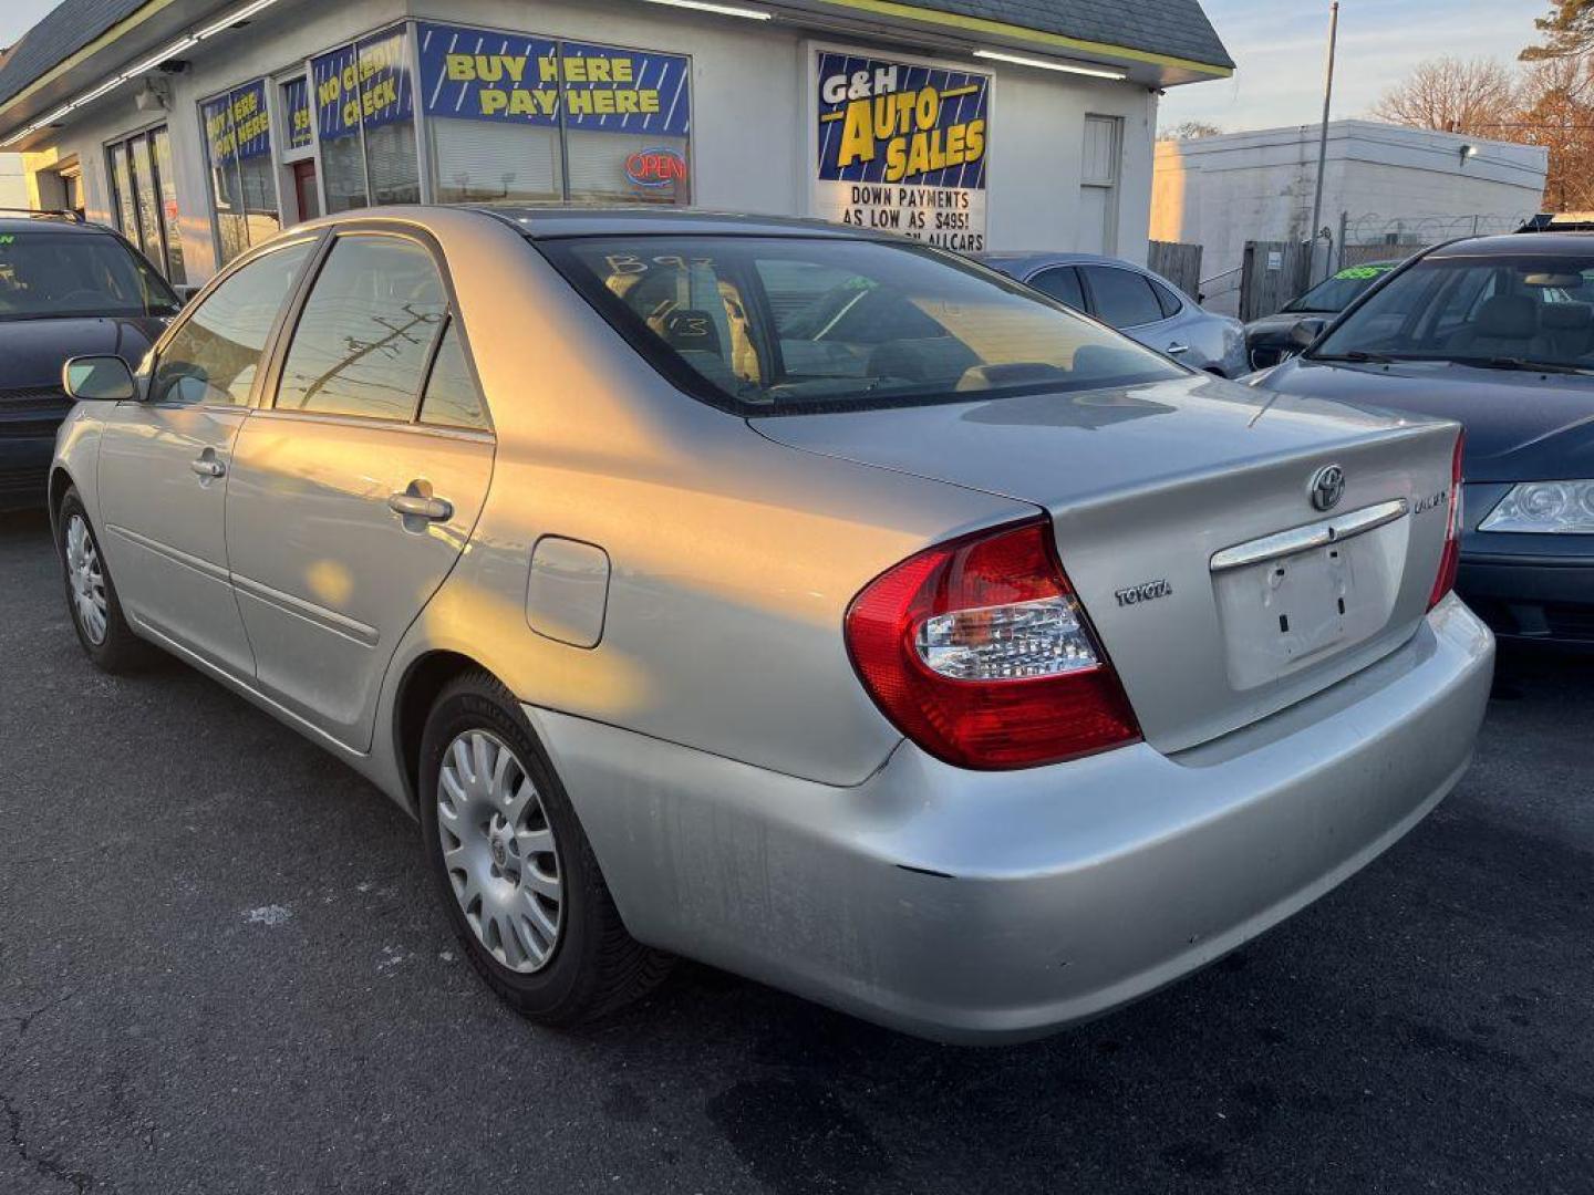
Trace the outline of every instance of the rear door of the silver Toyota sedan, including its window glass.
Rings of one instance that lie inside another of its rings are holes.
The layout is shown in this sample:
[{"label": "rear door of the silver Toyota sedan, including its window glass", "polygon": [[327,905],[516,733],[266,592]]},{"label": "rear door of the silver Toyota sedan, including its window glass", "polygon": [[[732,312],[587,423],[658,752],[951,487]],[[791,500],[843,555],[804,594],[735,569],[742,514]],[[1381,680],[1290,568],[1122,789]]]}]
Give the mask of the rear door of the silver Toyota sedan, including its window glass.
[{"label": "rear door of the silver Toyota sedan, including its window glass", "polygon": [[486,497],[494,440],[472,376],[434,247],[347,229],[233,446],[226,539],[255,684],[355,750]]}]

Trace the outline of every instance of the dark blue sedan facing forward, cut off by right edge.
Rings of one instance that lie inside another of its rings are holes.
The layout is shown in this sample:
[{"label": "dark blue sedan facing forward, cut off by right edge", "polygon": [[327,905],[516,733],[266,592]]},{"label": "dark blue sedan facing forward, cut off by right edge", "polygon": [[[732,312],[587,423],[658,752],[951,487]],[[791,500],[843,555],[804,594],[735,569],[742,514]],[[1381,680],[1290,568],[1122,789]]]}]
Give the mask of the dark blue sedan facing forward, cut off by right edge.
[{"label": "dark blue sedan facing forward, cut off by right edge", "polygon": [[1460,419],[1459,593],[1503,639],[1594,648],[1594,234],[1433,249],[1253,384]]}]

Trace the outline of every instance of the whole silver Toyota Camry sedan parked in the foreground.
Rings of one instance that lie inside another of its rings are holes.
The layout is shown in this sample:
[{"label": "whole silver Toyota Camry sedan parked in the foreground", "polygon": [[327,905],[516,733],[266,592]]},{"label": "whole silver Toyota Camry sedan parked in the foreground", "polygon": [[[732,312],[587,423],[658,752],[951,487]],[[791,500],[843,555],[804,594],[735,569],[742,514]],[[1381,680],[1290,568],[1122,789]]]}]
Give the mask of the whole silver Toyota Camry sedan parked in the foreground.
[{"label": "whole silver Toyota Camry sedan parked in the foreground", "polygon": [[1455,424],[907,241],[357,212],[64,381],[91,660],[164,648],[375,781],[539,1021],[687,954],[1039,1036],[1390,846],[1489,690]]}]

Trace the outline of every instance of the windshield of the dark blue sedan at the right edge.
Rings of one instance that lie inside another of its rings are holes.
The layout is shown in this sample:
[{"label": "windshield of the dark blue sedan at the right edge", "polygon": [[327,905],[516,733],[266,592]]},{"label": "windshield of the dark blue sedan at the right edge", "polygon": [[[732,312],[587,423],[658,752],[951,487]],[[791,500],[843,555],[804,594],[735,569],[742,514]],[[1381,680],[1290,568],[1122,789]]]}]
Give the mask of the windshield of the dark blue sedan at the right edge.
[{"label": "windshield of the dark blue sedan at the right edge", "polygon": [[1594,368],[1588,255],[1425,258],[1352,311],[1310,357]]}]

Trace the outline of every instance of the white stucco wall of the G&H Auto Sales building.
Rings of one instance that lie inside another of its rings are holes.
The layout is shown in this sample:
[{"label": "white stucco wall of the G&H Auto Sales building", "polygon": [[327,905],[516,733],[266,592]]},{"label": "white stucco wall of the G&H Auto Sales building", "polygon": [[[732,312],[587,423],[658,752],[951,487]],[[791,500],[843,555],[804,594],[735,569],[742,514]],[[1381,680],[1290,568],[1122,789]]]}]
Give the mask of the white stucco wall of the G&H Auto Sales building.
[{"label": "white stucco wall of the G&H Auto Sales building", "polygon": [[[198,116],[201,99],[277,73],[402,16],[587,38],[692,56],[692,169],[697,204],[768,214],[810,214],[808,35],[784,25],[650,10],[606,0],[352,0],[282,5],[249,29],[217,38],[174,76],[167,113],[137,112],[124,86],[61,131],[33,166],[77,156],[91,220],[115,223],[105,143],[167,124],[177,163],[177,201],[190,282],[215,269]],[[835,43],[834,37],[816,38]],[[859,45],[859,43],[843,43]],[[889,45],[889,57],[913,53]],[[936,59],[936,54],[918,54]],[[1087,113],[1124,121],[1117,190],[1117,252],[1146,255],[1156,99],[1144,86],[1087,80],[995,62],[969,64],[993,75],[988,145],[990,249],[1073,249],[1079,206],[1079,151]]]}]

